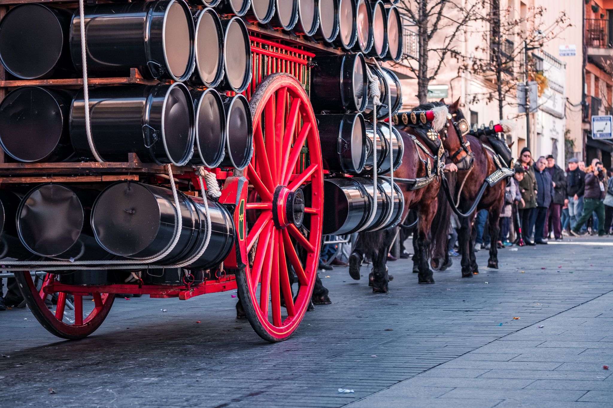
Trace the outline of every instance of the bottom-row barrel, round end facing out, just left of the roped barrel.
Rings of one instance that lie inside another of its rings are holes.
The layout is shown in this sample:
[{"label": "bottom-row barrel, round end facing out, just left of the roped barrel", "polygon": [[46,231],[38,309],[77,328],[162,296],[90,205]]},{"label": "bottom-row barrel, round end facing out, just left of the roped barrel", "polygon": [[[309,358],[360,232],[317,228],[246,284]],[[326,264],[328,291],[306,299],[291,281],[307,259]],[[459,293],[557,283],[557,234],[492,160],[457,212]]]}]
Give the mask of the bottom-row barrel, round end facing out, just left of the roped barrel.
[{"label": "bottom-row barrel, round end facing out, just left of the roped barrel", "polygon": [[110,259],[93,237],[89,213],[97,191],[41,184],[28,191],[17,209],[21,243],[34,254],[56,259]]}]

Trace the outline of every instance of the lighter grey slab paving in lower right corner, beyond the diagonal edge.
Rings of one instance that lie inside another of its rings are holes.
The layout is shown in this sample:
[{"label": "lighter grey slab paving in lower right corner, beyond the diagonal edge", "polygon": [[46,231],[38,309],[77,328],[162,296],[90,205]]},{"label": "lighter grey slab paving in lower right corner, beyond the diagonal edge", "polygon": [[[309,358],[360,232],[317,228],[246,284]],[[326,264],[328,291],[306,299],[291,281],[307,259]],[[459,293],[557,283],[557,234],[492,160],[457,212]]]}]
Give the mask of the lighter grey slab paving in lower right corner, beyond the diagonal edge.
[{"label": "lighter grey slab paving in lower right corner, beyond the diagonal edge", "polygon": [[611,407],[612,323],[609,292],[348,407]]}]

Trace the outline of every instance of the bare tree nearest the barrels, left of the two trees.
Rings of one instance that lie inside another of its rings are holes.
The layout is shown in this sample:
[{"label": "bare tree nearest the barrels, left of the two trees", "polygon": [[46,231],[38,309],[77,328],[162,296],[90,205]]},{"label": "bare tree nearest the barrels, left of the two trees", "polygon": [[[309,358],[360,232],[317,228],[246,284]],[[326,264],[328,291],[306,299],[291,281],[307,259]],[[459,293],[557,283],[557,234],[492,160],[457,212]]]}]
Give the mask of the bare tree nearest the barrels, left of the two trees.
[{"label": "bare tree nearest the barrels, left of the two trees", "polygon": [[[434,80],[449,59],[462,59],[457,39],[470,21],[480,18],[482,0],[466,1],[460,6],[456,0],[401,0],[401,13],[407,15],[417,28],[419,53],[405,56],[417,78],[419,103],[428,101],[428,84]],[[436,38],[435,38],[436,36]]]}]

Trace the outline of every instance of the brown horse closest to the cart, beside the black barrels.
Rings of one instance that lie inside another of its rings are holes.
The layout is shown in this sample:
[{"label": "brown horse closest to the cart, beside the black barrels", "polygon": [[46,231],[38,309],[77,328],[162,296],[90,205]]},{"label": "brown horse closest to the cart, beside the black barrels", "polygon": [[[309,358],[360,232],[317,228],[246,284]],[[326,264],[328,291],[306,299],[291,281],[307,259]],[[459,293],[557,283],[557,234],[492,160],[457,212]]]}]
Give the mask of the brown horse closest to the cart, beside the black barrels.
[{"label": "brown horse closest to the cart, beside the black barrels", "polygon": [[[444,125],[446,116],[446,108],[436,109],[435,125],[437,122]],[[443,125],[439,125],[436,130],[442,129]],[[401,219],[406,218],[409,210],[416,210],[419,218],[416,231],[419,283],[434,283],[433,272],[428,265],[428,259],[431,255],[443,256],[446,253],[447,224],[448,218],[451,216],[451,213],[446,215],[439,213],[439,216],[447,217],[447,222],[435,221],[438,201],[445,199],[444,196],[440,195],[440,177],[436,176],[436,174],[440,174],[440,170],[437,171],[436,169],[436,157],[439,152],[435,144],[440,143],[440,141],[428,137],[428,129],[425,128],[406,127],[400,130],[400,135],[402,135],[405,144],[405,151],[402,165],[394,171],[394,179],[402,190],[405,199],[405,208]],[[413,136],[417,139],[419,145],[414,141]],[[426,179],[431,175],[434,176],[433,179],[422,188],[412,189],[413,184],[406,181]],[[367,256],[373,262],[373,292],[388,292],[387,253],[396,235],[396,229],[360,232],[356,249],[349,257],[349,275],[355,280],[360,279],[360,264],[364,256]]]}]

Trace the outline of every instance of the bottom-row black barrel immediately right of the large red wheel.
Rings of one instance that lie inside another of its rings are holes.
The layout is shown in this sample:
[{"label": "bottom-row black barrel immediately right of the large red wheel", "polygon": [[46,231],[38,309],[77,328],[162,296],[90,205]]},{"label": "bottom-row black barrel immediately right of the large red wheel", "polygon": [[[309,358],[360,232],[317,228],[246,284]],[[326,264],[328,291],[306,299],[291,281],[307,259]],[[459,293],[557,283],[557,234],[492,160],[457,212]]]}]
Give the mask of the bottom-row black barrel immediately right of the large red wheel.
[{"label": "bottom-row black barrel immediately right of the large red wheel", "polygon": [[[352,234],[368,220],[371,202],[364,185],[358,182],[357,178],[343,177],[324,181],[322,234]],[[309,198],[310,194],[305,197]],[[305,204],[310,205],[309,202]]]}]

